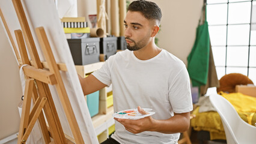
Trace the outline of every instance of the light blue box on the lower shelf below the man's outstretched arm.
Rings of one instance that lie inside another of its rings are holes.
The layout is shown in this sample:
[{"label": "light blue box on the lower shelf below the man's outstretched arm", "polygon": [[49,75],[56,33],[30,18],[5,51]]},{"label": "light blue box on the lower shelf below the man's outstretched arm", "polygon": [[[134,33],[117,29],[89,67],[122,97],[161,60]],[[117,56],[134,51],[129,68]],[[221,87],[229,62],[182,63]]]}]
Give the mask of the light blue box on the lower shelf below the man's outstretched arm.
[{"label": "light blue box on the lower shelf below the man's outstretched arm", "polygon": [[87,106],[91,117],[99,113],[99,96],[100,91],[96,91],[87,95]]}]

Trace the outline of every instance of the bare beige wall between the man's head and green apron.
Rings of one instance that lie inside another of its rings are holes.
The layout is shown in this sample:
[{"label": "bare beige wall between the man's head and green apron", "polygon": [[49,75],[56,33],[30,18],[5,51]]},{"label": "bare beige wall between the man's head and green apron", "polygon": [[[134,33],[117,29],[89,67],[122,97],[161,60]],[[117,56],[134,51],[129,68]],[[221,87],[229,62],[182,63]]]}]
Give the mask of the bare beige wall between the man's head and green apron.
[{"label": "bare beige wall between the man's head and green apron", "polygon": [[187,64],[187,56],[195,41],[203,0],[151,0],[162,10],[159,47]]}]

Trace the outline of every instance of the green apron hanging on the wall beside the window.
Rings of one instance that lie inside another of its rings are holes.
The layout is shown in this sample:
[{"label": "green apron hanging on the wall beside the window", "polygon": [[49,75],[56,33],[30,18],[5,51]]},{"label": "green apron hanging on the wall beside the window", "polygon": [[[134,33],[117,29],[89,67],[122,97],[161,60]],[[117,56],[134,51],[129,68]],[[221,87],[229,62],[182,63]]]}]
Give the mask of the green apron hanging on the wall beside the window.
[{"label": "green apron hanging on the wall beside the window", "polygon": [[203,25],[200,25],[203,14],[199,20],[197,27],[197,36],[194,46],[187,57],[187,71],[192,80],[192,86],[206,85],[207,74],[209,69],[209,53],[210,53],[210,36],[208,23],[206,20],[206,5],[203,7],[202,13],[205,11]]}]

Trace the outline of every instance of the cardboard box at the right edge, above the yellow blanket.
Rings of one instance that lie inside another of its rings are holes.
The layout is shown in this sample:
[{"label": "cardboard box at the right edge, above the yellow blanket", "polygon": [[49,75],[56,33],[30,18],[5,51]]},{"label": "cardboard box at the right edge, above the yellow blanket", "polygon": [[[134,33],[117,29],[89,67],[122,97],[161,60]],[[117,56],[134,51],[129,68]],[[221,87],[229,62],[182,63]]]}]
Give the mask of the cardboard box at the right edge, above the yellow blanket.
[{"label": "cardboard box at the right edge, above the yellow blanket", "polygon": [[256,86],[254,85],[236,85],[236,92],[256,97]]}]

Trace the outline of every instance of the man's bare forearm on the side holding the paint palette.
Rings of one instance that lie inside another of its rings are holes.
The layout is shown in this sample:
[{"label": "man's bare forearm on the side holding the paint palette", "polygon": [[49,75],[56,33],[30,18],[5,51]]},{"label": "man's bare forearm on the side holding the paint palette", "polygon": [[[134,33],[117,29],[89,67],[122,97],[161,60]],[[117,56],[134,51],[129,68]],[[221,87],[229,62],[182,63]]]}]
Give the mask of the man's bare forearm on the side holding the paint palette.
[{"label": "man's bare forearm on the side holding the paint palette", "polygon": [[165,120],[154,120],[150,131],[157,131],[160,133],[181,133],[188,130],[190,113],[175,114],[172,118]]}]

